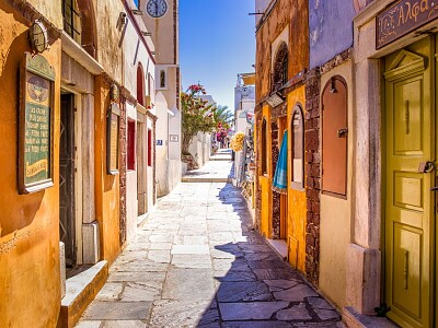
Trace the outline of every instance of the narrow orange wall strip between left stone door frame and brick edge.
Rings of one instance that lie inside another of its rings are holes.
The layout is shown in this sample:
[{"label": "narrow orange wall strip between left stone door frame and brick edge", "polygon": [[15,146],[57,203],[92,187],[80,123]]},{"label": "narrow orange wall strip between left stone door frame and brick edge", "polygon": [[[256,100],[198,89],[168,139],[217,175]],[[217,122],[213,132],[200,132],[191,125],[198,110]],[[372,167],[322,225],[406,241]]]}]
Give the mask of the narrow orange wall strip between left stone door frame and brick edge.
[{"label": "narrow orange wall strip between left stone door frame and brick edge", "polygon": [[95,188],[96,219],[101,234],[101,258],[113,262],[120,253],[119,176],[106,174],[106,113],[110,107],[110,84],[96,78],[95,91]]}]

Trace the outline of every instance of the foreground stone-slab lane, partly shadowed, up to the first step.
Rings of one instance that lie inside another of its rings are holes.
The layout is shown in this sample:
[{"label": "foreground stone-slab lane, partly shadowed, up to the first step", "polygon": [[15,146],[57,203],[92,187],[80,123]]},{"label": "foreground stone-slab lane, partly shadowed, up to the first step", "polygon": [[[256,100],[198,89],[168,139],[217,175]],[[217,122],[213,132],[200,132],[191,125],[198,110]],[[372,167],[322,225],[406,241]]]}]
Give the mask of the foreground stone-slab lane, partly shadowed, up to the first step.
[{"label": "foreground stone-slab lane, partly shadowed, up to the first step", "polygon": [[252,231],[240,191],[185,183],[117,258],[77,327],[344,327]]}]

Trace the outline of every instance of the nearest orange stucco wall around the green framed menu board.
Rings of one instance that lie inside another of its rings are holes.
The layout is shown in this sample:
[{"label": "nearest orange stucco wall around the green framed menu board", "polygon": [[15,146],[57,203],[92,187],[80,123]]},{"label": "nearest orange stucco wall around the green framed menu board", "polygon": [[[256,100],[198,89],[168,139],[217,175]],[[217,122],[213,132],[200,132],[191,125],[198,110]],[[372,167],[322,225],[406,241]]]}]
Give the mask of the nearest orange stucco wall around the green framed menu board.
[{"label": "nearest orange stucco wall around the green framed menu board", "polygon": [[27,23],[0,1],[0,327],[55,327],[60,308],[60,43],[43,56],[55,68],[54,187],[18,191],[19,68]]}]

